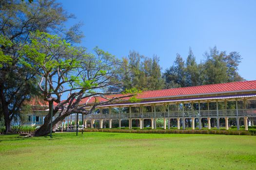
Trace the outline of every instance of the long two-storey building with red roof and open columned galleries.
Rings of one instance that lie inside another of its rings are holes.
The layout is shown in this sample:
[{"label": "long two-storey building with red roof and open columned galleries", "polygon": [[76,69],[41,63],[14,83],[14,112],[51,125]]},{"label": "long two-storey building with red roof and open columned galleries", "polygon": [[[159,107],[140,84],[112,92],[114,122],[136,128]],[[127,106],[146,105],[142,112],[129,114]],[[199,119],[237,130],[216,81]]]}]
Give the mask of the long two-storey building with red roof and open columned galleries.
[{"label": "long two-storey building with red roof and open columned galleries", "polygon": [[[121,96],[110,95],[106,98]],[[216,85],[200,85],[194,87],[181,87],[164,90],[144,91],[138,94],[139,102],[129,102],[129,98],[124,98],[118,102],[111,102],[98,106],[92,115],[84,116],[84,126],[87,121],[91,128],[95,121],[99,121],[99,128],[103,128],[103,120],[109,121],[109,128],[112,126],[112,120],[129,120],[129,128],[132,128],[132,120],[139,120],[139,127],[144,127],[144,120],[151,120],[152,129],[156,128],[156,120],[164,120],[164,129],[176,126],[178,129],[186,128],[186,123],[190,128],[202,128],[202,119],[207,119],[208,129],[215,126],[219,129],[220,119],[225,128],[236,125],[239,130],[240,125],[254,125],[256,118],[256,81],[244,81],[235,83],[224,83]],[[84,99],[84,103],[88,99]],[[105,98],[91,98],[88,107],[95,100],[97,102],[107,101]],[[34,105],[33,114],[27,115],[28,125],[41,125],[44,116],[48,113],[48,108],[44,104]],[[75,120],[75,115],[67,117],[64,122],[67,127]],[[79,116],[81,120],[81,116]],[[232,124],[229,119],[235,119]],[[171,121],[172,120],[172,121]],[[167,124],[166,124],[167,122]],[[172,124],[171,124],[172,122]]]}]

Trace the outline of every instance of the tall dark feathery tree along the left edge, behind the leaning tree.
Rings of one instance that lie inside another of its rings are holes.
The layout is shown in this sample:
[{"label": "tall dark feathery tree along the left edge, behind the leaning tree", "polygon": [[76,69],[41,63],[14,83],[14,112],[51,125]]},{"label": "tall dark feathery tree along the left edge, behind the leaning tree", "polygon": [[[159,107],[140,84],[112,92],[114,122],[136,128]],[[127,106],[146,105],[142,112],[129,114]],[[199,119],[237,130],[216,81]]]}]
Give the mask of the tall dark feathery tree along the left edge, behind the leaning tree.
[{"label": "tall dark feathery tree along the left edge, behind the leaning tree", "polygon": [[79,42],[79,24],[65,30],[70,17],[55,0],[0,1],[0,105],[5,120],[5,133],[11,120],[20,112],[23,102],[36,92],[35,72],[20,65],[21,44],[29,42],[36,30],[62,35],[69,42]]}]

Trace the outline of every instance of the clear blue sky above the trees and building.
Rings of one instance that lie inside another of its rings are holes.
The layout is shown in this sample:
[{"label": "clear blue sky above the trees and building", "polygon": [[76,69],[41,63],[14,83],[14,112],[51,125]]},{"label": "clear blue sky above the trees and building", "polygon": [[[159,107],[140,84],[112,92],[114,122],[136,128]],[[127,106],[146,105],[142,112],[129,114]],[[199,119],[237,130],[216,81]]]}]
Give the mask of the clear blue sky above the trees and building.
[{"label": "clear blue sky above the trees and building", "polygon": [[81,45],[118,58],[135,50],[157,54],[164,71],[192,48],[197,62],[210,47],[238,51],[239,73],[256,80],[256,0],[59,0],[83,22]]}]

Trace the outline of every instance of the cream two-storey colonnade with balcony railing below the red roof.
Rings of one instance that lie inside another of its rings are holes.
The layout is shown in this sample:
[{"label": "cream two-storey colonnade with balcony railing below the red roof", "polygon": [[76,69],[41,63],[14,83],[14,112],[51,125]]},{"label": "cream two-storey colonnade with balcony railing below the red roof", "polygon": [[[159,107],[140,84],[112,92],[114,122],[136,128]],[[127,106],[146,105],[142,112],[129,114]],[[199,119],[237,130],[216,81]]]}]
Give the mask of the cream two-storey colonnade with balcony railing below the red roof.
[{"label": "cream two-storey colonnade with balcony railing below the red roof", "polygon": [[[242,100],[242,99],[241,99]],[[135,105],[134,107],[139,107],[139,113],[132,113],[132,106],[129,105],[129,110],[128,113],[121,113],[121,106],[119,107],[119,113],[111,113],[111,109],[115,106],[109,106],[109,107],[101,107],[99,109],[99,114],[92,114],[92,115],[85,115],[85,119],[83,120],[83,125],[84,128],[87,128],[87,120],[90,121],[90,128],[94,128],[94,123],[95,120],[99,121],[99,128],[103,128],[103,120],[108,121],[109,128],[112,128],[112,120],[118,120],[118,125],[119,128],[121,128],[121,120],[123,119],[128,119],[129,120],[129,129],[132,129],[132,121],[134,119],[139,120],[139,128],[143,129],[144,128],[144,120],[145,119],[150,119],[151,120],[151,128],[156,129],[157,128],[157,119],[163,119],[163,128],[170,129],[171,128],[171,119],[176,119],[177,124],[175,125],[177,129],[180,129],[180,124],[182,125],[182,129],[186,128],[185,122],[186,119],[189,119],[191,122],[191,128],[194,130],[196,123],[198,122],[198,128],[202,129],[202,121],[201,119],[207,119],[207,128],[211,129],[211,121],[217,122],[217,129],[220,129],[220,118],[225,119],[225,129],[229,129],[229,118],[235,118],[236,119],[236,126],[237,130],[240,129],[240,119],[244,119],[244,126],[245,130],[248,130],[248,117],[250,118],[256,118],[256,109],[246,109],[246,99],[243,99],[243,108],[238,109],[238,104],[237,104],[237,99],[233,100],[236,102],[236,109],[227,109],[227,100],[224,100],[222,102],[225,102],[225,109],[224,110],[219,110],[218,109],[218,101],[216,100],[216,109],[217,110],[210,110],[209,109],[209,103],[213,101],[204,101],[207,103],[207,110],[201,110],[200,102],[202,101],[192,101],[190,104],[191,110],[185,111],[185,106],[184,102],[177,102],[177,103],[163,103],[163,112],[156,112],[156,104],[151,104],[151,105]],[[194,105],[193,103],[198,103],[197,104],[197,109],[194,110]],[[177,105],[177,111],[170,111],[169,110],[169,105],[170,104],[176,104]],[[182,105],[181,105],[182,104]],[[151,106],[151,112],[146,112],[143,113],[143,106]],[[166,107],[168,106],[168,107]],[[182,106],[182,107],[181,107]],[[108,114],[102,114],[102,109],[109,109]],[[76,120],[77,118],[75,118]],[[196,121],[196,119],[198,119]],[[217,121],[216,121],[216,120]],[[69,125],[72,125],[72,116],[71,118],[66,118],[65,121],[67,121],[67,127],[69,128]],[[166,122],[167,121],[167,122]],[[70,122],[70,124],[69,124]],[[79,121],[78,121],[79,122]],[[64,123],[65,124],[65,123]],[[167,126],[166,126],[167,125]],[[65,127],[64,127],[65,128]]]}]

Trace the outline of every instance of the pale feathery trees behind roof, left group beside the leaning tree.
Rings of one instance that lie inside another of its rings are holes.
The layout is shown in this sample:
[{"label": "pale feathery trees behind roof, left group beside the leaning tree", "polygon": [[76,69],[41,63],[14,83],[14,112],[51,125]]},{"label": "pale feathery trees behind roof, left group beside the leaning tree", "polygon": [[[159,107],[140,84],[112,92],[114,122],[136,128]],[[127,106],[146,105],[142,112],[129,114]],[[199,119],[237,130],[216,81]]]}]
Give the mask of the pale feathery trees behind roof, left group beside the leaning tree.
[{"label": "pale feathery trees behind roof, left group beside the leaning tree", "polygon": [[[129,58],[129,59],[128,59]],[[158,90],[163,88],[159,57],[153,58],[130,51],[128,58],[123,58],[121,67],[121,81],[123,88],[137,88],[140,90]]]}]

